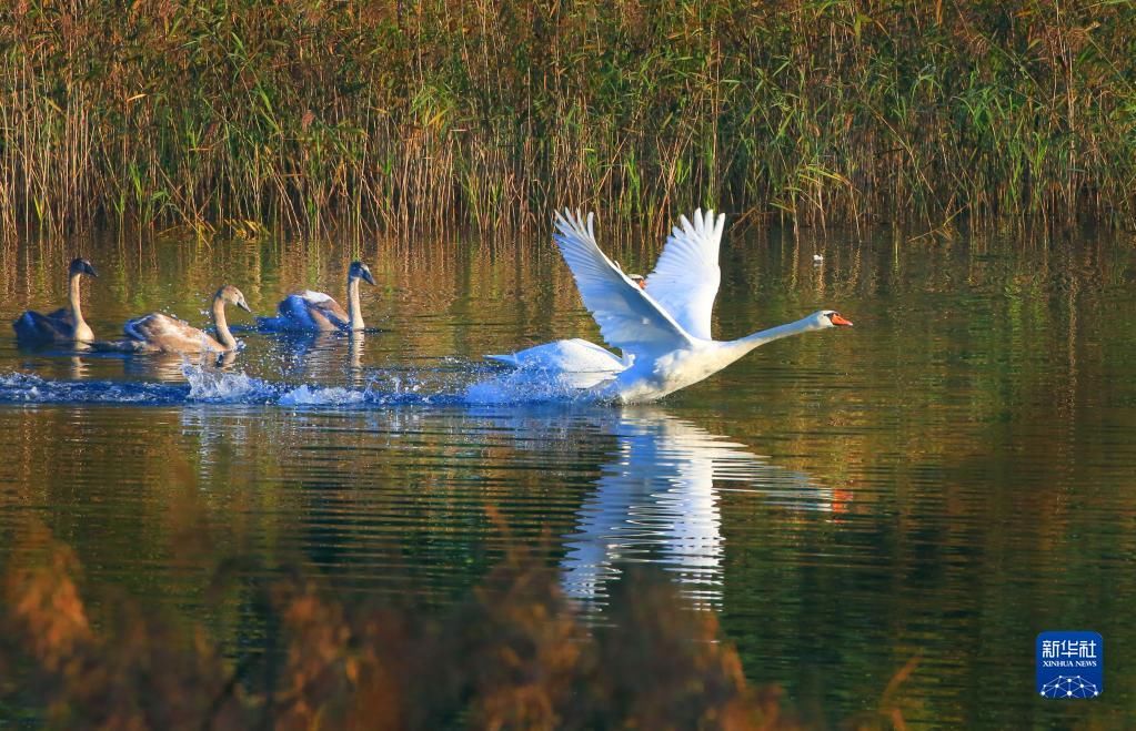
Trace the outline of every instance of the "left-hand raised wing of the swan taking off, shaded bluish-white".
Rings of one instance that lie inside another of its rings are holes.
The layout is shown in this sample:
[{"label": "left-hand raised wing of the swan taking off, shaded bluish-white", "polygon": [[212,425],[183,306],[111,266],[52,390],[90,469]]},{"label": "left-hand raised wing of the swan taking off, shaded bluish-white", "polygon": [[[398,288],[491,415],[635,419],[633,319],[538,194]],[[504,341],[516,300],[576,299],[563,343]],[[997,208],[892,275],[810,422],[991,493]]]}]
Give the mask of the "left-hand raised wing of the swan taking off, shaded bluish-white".
[{"label": "left-hand raised wing of the swan taking off, shaded bluish-white", "polygon": [[632,282],[595,243],[592,222],[577,211],[557,213],[553,238],[576,278],[584,306],[609,345],[633,354],[662,353],[691,344],[691,336],[654,299]]}]

